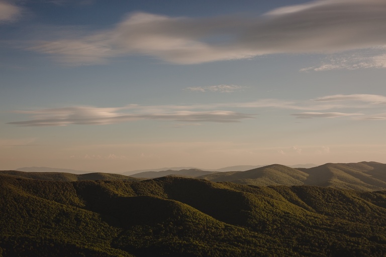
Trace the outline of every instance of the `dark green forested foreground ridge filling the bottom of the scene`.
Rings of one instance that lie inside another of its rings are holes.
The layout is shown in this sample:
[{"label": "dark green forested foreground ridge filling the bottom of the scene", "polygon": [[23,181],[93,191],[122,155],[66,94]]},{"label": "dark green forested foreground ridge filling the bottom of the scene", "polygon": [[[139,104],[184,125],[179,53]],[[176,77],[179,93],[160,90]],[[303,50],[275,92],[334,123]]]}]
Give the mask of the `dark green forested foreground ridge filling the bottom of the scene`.
[{"label": "dark green forested foreground ridge filling the bottom of the scene", "polygon": [[0,196],[0,256],[386,255],[386,191],[2,174]]}]

